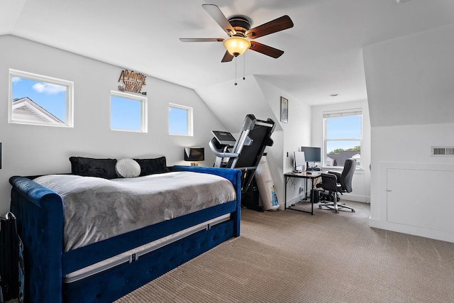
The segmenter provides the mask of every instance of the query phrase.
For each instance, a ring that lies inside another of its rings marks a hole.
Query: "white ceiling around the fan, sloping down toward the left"
[[[289,15],[293,28],[258,38],[284,55],[248,51],[245,60],[221,63],[222,43],[180,42],[226,38],[202,9],[206,3],[218,5],[226,17],[248,16],[253,26]],[[235,70],[238,79],[243,73],[261,77],[311,105],[367,99],[363,46],[452,23],[453,0],[0,0],[0,35],[143,72],[196,90],[212,108],[244,111],[260,105],[260,91],[249,87],[236,94],[247,82],[228,89],[230,97],[216,94],[216,87],[234,81]]]

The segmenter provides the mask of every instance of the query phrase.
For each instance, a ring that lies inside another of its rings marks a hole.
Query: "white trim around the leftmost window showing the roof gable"
[[[42,81],[50,84],[66,87],[66,123],[40,123],[35,121],[13,120],[13,78],[21,77],[34,81]],[[8,96],[8,122],[18,124],[30,124],[39,126],[74,127],[74,82],[44,75],[9,69],[9,96]]]

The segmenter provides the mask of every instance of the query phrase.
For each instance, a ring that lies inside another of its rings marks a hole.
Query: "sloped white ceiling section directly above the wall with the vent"
[[[364,49],[371,126],[454,123],[454,26]]]

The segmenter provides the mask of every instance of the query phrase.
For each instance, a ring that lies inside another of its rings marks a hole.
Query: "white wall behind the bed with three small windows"
[[[110,92],[117,89],[121,70],[128,67],[108,65],[9,35],[0,36],[0,45],[0,214],[9,209],[9,177],[70,172],[68,158],[72,155],[166,155],[167,165],[188,164],[183,161],[183,147],[196,145],[206,148],[206,160],[201,165],[213,164],[214,155],[208,147],[210,131],[223,126],[192,89],[147,77],[143,91],[148,93],[148,133],[111,131]],[[73,81],[74,128],[8,123],[9,68]],[[193,137],[168,135],[170,102],[194,109]]]

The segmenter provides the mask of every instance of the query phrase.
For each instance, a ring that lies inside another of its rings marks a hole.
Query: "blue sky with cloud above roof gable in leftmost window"
[[[67,87],[23,77],[13,77],[13,99],[28,97],[63,123],[67,112]]]

